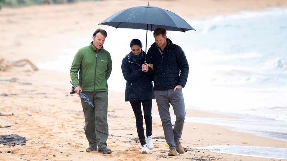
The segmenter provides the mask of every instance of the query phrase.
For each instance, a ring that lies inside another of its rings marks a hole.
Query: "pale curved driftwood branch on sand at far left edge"
[[[38,70],[38,67],[34,65],[30,60],[22,59],[15,62],[5,62],[4,58],[0,59],[0,71],[6,71],[11,67],[23,67],[24,65],[30,65],[34,71]]]

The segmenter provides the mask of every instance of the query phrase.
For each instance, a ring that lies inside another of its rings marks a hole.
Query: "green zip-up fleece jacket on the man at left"
[[[76,53],[70,70],[72,82],[83,91],[108,91],[107,80],[112,71],[111,55],[103,47],[96,53],[96,47],[92,44]]]

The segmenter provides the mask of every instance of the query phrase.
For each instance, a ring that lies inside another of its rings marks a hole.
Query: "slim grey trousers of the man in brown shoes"
[[[175,142],[179,142],[179,139],[181,138],[186,115],[182,89],[178,88],[175,91],[173,91],[173,89],[154,91],[154,95],[156,98],[156,104],[158,106],[158,113],[161,118],[166,143],[169,145],[169,148],[176,149]],[[173,111],[176,116],[173,129],[171,125],[169,103],[173,107]]]

